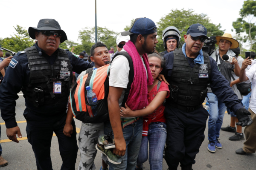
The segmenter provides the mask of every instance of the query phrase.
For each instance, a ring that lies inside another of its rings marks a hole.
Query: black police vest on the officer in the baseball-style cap
[[[174,62],[170,83],[171,100],[167,103],[180,110],[189,112],[200,107],[207,96],[207,85],[211,73],[209,55],[205,52],[204,64],[195,64],[191,68],[182,49],[173,51]]]

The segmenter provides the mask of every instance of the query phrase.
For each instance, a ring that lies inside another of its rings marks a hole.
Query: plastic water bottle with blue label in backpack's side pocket
[[[97,115],[97,103],[98,103],[98,99],[96,94],[90,89],[90,86],[86,86],[86,90],[87,90],[87,101],[90,105],[93,106],[88,106],[87,105],[87,109],[88,109],[88,113],[90,114],[90,117],[96,116]]]

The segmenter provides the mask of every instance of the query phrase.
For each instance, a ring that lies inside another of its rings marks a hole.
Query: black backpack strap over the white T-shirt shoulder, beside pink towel
[[[128,52],[125,52],[125,51],[120,51],[119,53],[116,53],[114,55],[113,59],[112,59],[112,62],[116,58],[116,56],[118,56],[120,54],[127,58],[128,62],[129,62],[129,67],[130,67],[129,77],[128,77],[129,82],[128,82],[127,88],[125,89],[125,96],[124,96],[124,99],[123,99],[123,102],[122,102],[122,107],[125,108],[125,103],[128,99],[128,96],[129,96],[129,93],[130,93],[130,90],[131,90],[131,84],[134,81],[134,65],[133,65],[133,61],[131,59],[131,56],[128,54]]]

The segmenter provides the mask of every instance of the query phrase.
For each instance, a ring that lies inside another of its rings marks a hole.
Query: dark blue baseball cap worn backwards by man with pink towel
[[[147,35],[157,32],[157,26],[154,21],[149,18],[136,18],[131,24],[129,31],[121,32],[122,36],[127,36],[131,34],[141,34]]]

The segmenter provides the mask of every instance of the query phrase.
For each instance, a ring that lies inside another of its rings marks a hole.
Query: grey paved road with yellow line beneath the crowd
[[[9,161],[9,165],[6,167],[0,167],[0,170],[36,170],[35,156],[31,145],[26,140],[26,121],[23,117],[23,111],[25,109],[25,102],[23,96],[20,95],[17,100],[16,106],[16,121],[19,122],[23,140],[19,143],[8,142],[6,136],[6,127],[4,121],[0,118],[0,124],[2,129],[1,145],[3,147],[3,157]],[[230,116],[225,114],[223,126],[230,123]],[[81,122],[76,120],[77,131],[81,127]],[[205,130],[205,136],[207,136],[208,129]],[[256,154],[250,154],[248,156],[241,156],[235,153],[236,149],[243,146],[244,141],[232,142],[228,140],[228,137],[233,136],[233,133],[221,131],[220,142],[223,145],[222,149],[216,149],[215,153],[209,153],[207,150],[208,140],[204,140],[201,145],[200,152],[196,157],[196,164],[193,166],[194,170],[256,170]],[[78,135],[77,135],[78,138]],[[56,136],[52,137],[51,147],[52,166],[54,170],[59,170],[61,167],[61,156],[58,150],[58,140]],[[80,152],[77,154],[76,170],[78,169],[80,161]],[[101,167],[101,156],[98,153],[95,159],[96,170]],[[148,161],[143,165],[143,169],[149,170]],[[163,170],[167,170],[168,166],[166,161],[163,160]],[[180,167],[179,167],[180,170]]]

